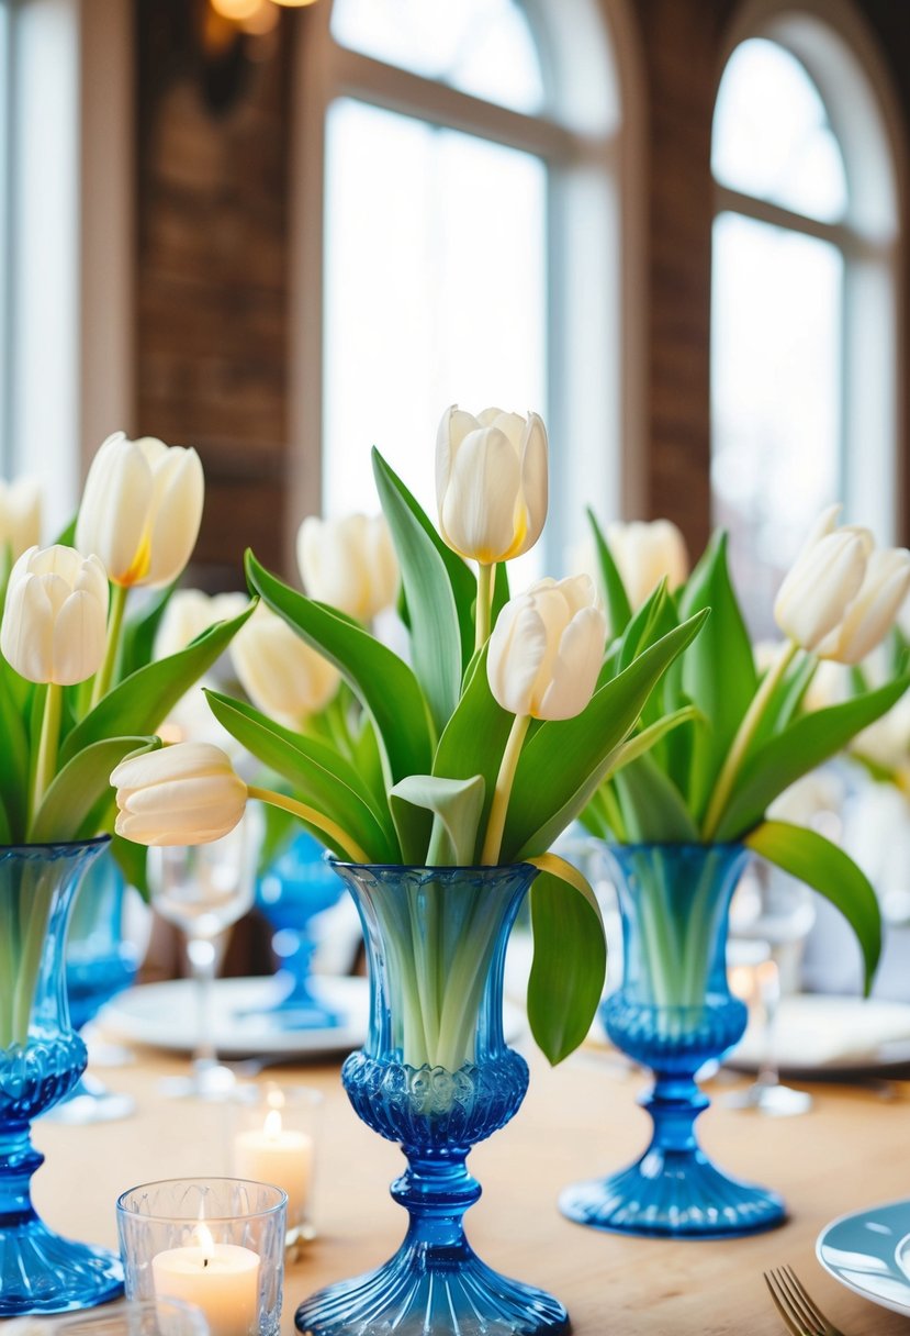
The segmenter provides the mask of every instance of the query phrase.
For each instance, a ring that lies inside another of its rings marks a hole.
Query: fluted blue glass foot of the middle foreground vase
[[[538,1336],[568,1331],[563,1305],[500,1276],[470,1248],[407,1244],[378,1271],[330,1285],[296,1313],[303,1336]]]

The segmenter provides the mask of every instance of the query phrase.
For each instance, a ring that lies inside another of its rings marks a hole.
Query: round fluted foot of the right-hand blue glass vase
[[[727,1177],[701,1150],[654,1148],[628,1169],[566,1188],[559,1209],[579,1225],[651,1238],[735,1238],[786,1216],[781,1197]]]

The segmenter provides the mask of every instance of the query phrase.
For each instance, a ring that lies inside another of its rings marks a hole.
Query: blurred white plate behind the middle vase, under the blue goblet
[[[275,978],[216,979],[212,1013],[219,1054],[225,1058],[248,1053],[306,1055],[360,1047],[367,1037],[367,981],[324,974],[314,975],[312,983],[320,1001],[343,1017],[342,1025],[319,1030],[282,1030],[270,1025],[268,1017],[262,1014],[282,997],[282,985]],[[108,1002],[97,1022],[135,1043],[192,1053],[199,1037],[193,989],[192,979],[143,983]]]

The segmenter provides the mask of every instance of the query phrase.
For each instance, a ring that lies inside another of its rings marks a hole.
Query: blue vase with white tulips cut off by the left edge
[[[83,871],[111,843],[111,766],[160,745],[155,728],[246,616],[151,661],[151,637],[196,540],[193,450],[123,433],[99,450],[75,530],[37,545],[36,492],[0,490],[0,1315],[59,1312],[121,1288],[104,1249],[36,1216],[29,1122],[79,1079],[85,1046],[65,1007],[64,938]],[[129,591],[161,591],[136,617]],[[131,879],[135,846],[115,840]]]

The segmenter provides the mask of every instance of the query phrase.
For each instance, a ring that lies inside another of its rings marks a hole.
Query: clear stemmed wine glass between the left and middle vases
[[[148,851],[152,906],[184,934],[196,993],[192,1074],[165,1081],[167,1094],[217,1100],[225,1097],[235,1082],[231,1069],[217,1061],[213,986],[219,938],[254,903],[258,836],[259,814],[248,807],[228,835],[209,844]]]

